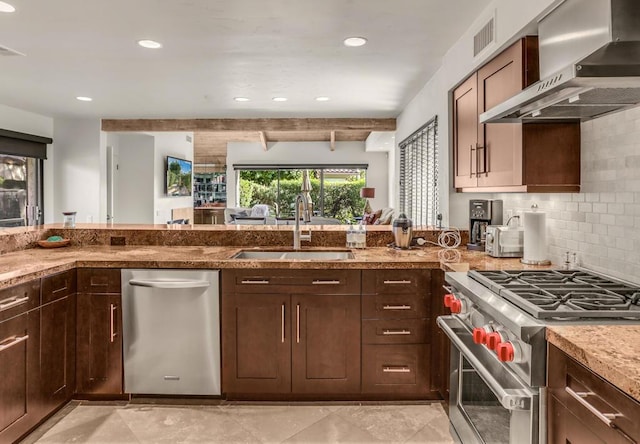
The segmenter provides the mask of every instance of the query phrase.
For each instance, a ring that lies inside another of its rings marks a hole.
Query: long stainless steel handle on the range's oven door
[[[457,322],[453,316],[439,316],[437,319],[438,326],[444,331],[447,337],[451,340],[451,343],[460,350],[460,353],[464,358],[469,361],[473,368],[478,372],[478,375],[489,386],[491,391],[496,395],[502,407],[507,410],[531,410],[531,400],[533,393],[527,390],[525,387],[521,389],[507,389],[493,377],[493,375],[486,370],[482,362],[476,358],[473,352],[467,347],[467,345],[458,337],[456,332],[449,326],[447,321]],[[460,323],[462,326],[463,324]]]

